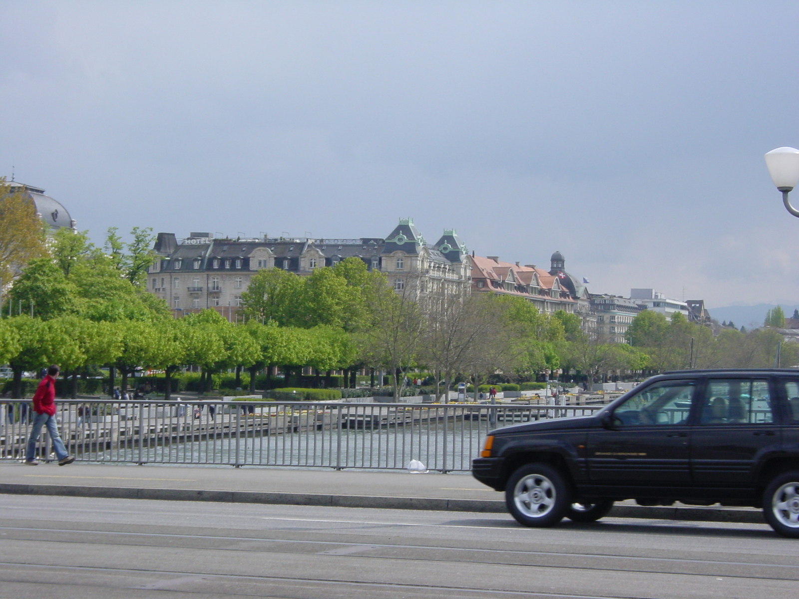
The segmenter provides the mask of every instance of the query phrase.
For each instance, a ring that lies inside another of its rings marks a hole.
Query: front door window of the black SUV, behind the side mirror
[[[626,399],[613,412],[616,426],[674,426],[688,422],[693,381],[654,383]]]

